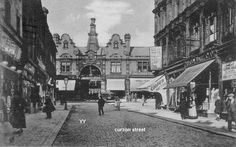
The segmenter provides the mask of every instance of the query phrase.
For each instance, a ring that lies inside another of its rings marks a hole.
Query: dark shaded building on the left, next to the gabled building
[[[47,15],[41,0],[23,0],[22,89],[23,97],[34,107],[45,95],[54,98],[57,49]]]

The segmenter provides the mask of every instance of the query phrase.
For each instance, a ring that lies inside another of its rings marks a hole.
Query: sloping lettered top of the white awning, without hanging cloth
[[[144,83],[142,86],[138,87],[138,89],[143,90],[143,91],[154,92],[156,89],[160,89],[159,87],[163,83],[166,84],[165,76],[160,75]]]

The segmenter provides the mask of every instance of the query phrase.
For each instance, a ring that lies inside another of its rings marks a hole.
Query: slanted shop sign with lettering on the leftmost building
[[[12,41],[11,38],[9,38],[9,36],[3,32],[0,33],[0,50],[17,60],[19,60],[21,57],[21,49],[14,41]]]

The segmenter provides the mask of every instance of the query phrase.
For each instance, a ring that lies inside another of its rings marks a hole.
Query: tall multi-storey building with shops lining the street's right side
[[[195,85],[198,112],[213,112],[226,90],[235,92],[236,2],[234,0],[155,0],[155,46],[162,46],[169,107],[181,87]],[[229,69],[227,69],[228,67]],[[190,92],[188,90],[188,92]]]

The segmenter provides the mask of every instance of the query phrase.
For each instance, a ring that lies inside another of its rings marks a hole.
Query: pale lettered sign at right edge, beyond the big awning
[[[236,61],[222,64],[222,81],[236,79]]]

